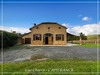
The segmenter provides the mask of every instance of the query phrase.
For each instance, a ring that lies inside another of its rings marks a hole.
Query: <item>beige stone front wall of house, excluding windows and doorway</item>
[[[50,29],[48,29],[48,27],[50,27]],[[59,29],[59,27],[61,27],[61,29]],[[29,35],[29,36],[31,36],[31,44],[32,45],[43,45],[43,35],[46,33],[53,34],[53,45],[66,45],[66,43],[67,43],[66,28],[64,28],[60,25],[57,25],[57,24],[41,24],[41,25],[38,25],[38,29],[36,29],[36,27],[33,27],[31,29],[31,34]],[[33,34],[41,34],[42,40],[41,41],[40,40],[33,41]],[[62,40],[56,41],[56,34],[64,34],[64,41],[62,41]]]

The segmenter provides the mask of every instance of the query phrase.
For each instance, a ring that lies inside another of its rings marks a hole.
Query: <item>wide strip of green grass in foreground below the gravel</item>
[[[20,63],[4,63],[3,64],[4,72],[12,72],[7,75],[33,75],[31,72],[35,73],[35,75],[55,75],[54,73],[58,73],[57,75],[62,75],[62,71],[54,71],[54,69],[62,69],[67,75],[68,72],[96,72],[97,71],[97,61],[89,61],[89,60],[80,60],[80,59],[49,59],[47,61],[28,61],[28,62],[20,62]],[[100,67],[100,65],[99,65]],[[26,70],[31,70],[29,73]],[[46,71],[32,71],[33,69],[38,70],[46,70]],[[69,69],[69,71],[64,71],[64,69]],[[73,69],[73,71],[71,71]],[[48,71],[49,70],[49,71]],[[23,74],[16,74],[16,72],[25,72]],[[44,72],[44,74],[42,74]],[[47,74],[46,74],[46,73]],[[100,72],[100,70],[99,70]],[[38,74],[39,73],[39,74]],[[91,74],[85,74],[91,75]],[[96,74],[93,74],[96,75]]]

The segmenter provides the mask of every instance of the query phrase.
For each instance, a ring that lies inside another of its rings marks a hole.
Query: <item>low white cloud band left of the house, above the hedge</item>
[[[22,27],[6,27],[6,26],[0,26],[0,30],[5,30],[8,32],[16,31],[16,33],[28,33],[30,30],[28,28],[22,28]]]

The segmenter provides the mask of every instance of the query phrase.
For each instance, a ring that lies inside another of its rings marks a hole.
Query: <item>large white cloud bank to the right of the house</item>
[[[84,33],[85,35],[96,35],[100,34],[100,24],[86,24],[83,26],[76,26],[70,29],[70,32],[79,35],[79,33]]]

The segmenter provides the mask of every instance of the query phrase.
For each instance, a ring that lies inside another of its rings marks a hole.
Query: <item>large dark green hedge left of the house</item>
[[[14,46],[17,43],[18,35],[15,33],[10,33],[6,31],[0,31],[0,39],[2,39],[3,36],[3,48]],[[1,46],[2,40],[0,40],[0,46]]]

